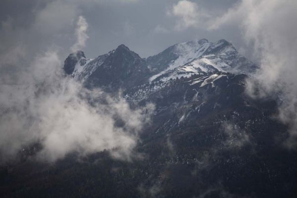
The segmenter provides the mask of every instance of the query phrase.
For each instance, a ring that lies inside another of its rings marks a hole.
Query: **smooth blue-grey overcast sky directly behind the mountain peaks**
[[[212,42],[226,39],[245,53],[247,46],[237,26],[206,30],[203,24],[177,25],[181,18],[205,20],[207,14],[220,16],[237,1],[188,1],[195,3],[190,4],[195,12],[202,13],[193,16],[189,6],[183,7],[179,0],[1,0],[0,52],[21,44],[28,55],[52,46],[67,55],[76,40],[76,21],[83,16],[89,39],[82,50],[88,57],[120,44],[148,57],[175,43],[202,38]]]

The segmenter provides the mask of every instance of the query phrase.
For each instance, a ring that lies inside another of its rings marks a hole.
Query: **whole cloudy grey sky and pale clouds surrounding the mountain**
[[[275,119],[289,128],[284,146],[296,149],[296,19],[296,0],[1,0],[0,161],[36,141],[49,161],[112,147],[131,158],[153,104],[130,109],[120,97],[86,90],[63,76],[65,58],[79,49],[97,57],[120,44],[148,57],[202,38],[226,39],[260,65],[247,94],[277,95]],[[93,107],[81,96],[108,102]],[[115,115],[124,127],[114,127]]]

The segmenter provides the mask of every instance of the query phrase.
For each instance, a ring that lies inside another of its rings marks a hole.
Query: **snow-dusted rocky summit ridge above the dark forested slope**
[[[77,51],[64,64],[65,72],[87,87],[106,89],[127,89],[152,81],[165,82],[218,71],[250,74],[257,68],[226,40],[211,43],[206,39],[176,44],[148,58],[141,58],[125,45],[95,59]]]

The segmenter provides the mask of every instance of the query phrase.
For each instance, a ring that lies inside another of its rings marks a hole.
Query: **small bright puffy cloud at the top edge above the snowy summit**
[[[177,18],[175,29],[178,31],[203,24],[210,15],[205,9],[199,9],[198,4],[189,0],[180,0],[167,11],[169,16]]]

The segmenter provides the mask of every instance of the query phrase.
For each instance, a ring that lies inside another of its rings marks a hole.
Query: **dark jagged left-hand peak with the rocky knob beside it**
[[[146,61],[125,45],[94,59],[84,52],[71,53],[65,60],[64,70],[89,88],[118,89],[141,85],[149,74]]]

